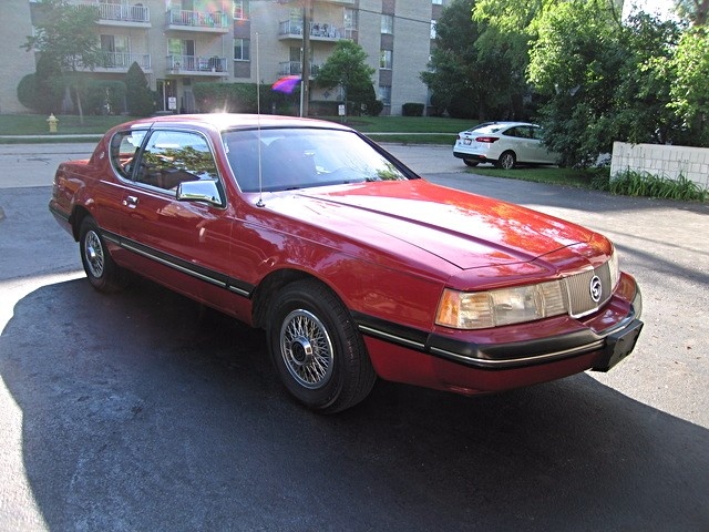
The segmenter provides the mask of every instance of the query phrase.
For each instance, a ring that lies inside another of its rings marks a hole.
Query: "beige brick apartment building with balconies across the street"
[[[134,61],[160,95],[162,111],[196,111],[195,83],[274,83],[310,78],[342,39],[358,42],[376,69],[372,83],[382,114],[407,102],[427,103],[419,73],[427,69],[434,21],[450,0],[73,0],[96,6],[94,31],[104,61],[91,75],[121,80]],[[17,98],[34,55],[20,47],[32,34],[37,1],[6,0],[2,22],[0,112],[27,110]],[[308,43],[307,49],[304,43]],[[258,68],[257,68],[258,58]],[[337,101],[337,90],[312,86],[311,100]]]

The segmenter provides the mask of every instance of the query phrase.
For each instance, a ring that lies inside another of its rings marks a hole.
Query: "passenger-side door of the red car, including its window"
[[[226,285],[232,219],[207,137],[196,131],[152,131],[123,200],[123,246],[143,275],[204,299]],[[179,201],[182,183],[212,181],[220,204]],[[208,299],[208,298],[207,298]]]

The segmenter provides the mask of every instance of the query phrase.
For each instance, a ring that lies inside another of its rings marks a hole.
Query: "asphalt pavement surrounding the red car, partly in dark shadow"
[[[316,416],[261,332],[146,282],[91,289],[47,202],[58,162],[93,143],[0,145],[0,531],[709,530],[707,205],[389,147],[431,181],[612,237],[644,293],[636,351],[499,396],[379,382]]]

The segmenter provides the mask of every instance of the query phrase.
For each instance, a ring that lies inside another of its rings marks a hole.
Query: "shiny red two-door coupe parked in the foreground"
[[[148,277],[254,327],[321,412],[377,377],[473,395],[606,371],[640,290],[602,235],[433,185],[330,122],[144,119],[56,171],[90,283]]]

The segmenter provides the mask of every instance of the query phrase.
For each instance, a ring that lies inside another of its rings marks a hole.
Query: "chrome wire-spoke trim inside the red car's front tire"
[[[335,349],[330,335],[308,310],[296,309],[284,319],[280,355],[290,376],[304,388],[322,388],[332,376]]]

